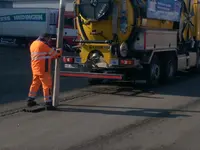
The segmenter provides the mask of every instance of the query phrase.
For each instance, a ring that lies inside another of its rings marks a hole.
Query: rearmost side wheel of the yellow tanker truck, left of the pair
[[[161,67],[156,55],[153,56],[151,63],[147,66],[147,75],[147,85],[157,86],[161,76]]]

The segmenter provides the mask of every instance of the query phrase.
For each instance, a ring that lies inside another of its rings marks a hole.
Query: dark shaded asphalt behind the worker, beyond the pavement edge
[[[0,103],[25,100],[32,80],[29,50],[0,47],[0,68]],[[87,80],[80,78],[62,78],[60,83],[61,92],[87,86]]]

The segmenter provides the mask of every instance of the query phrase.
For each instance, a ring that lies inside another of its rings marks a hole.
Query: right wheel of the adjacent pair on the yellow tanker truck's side
[[[160,83],[172,81],[177,71],[177,61],[174,55],[169,55],[164,59],[161,66]]]

